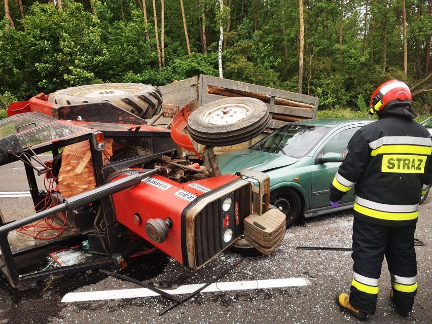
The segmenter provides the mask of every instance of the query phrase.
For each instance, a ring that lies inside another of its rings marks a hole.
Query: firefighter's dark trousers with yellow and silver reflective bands
[[[417,293],[415,228],[415,224],[385,226],[354,217],[351,255],[354,265],[349,296],[351,305],[365,313],[375,313],[385,256],[391,276],[393,303],[403,312],[412,310]]]

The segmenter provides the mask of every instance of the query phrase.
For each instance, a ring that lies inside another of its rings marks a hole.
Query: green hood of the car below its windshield
[[[255,150],[240,150],[218,156],[222,173],[235,173],[244,168],[261,172],[294,164],[298,161],[285,155]]]

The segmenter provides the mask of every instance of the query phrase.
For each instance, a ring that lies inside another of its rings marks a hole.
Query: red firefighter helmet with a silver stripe
[[[392,104],[407,103],[411,107],[411,102],[410,88],[402,81],[390,80],[376,88],[371,97],[371,109],[368,113],[379,113],[384,107]]]

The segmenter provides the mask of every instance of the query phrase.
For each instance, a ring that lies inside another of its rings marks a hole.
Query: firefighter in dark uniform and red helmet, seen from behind
[[[378,121],[354,134],[330,185],[335,207],[355,188],[351,292],[338,293],[336,303],[359,320],[375,313],[384,256],[390,298],[401,316],[412,310],[417,293],[414,232],[420,197],[432,182],[432,139],[413,120],[411,101],[409,87],[398,80],[375,90],[369,114],[377,113]]]

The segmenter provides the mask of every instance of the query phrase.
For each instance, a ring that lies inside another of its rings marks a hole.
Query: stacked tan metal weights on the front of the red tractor
[[[251,214],[244,219],[244,239],[265,255],[271,254],[285,236],[285,214],[269,209],[262,215]]]

